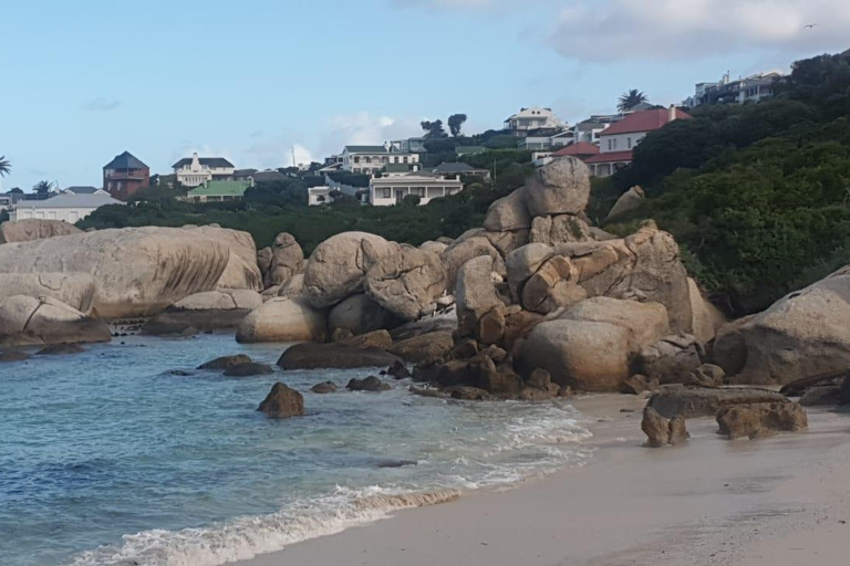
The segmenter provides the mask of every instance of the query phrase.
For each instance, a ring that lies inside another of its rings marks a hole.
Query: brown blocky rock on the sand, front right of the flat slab
[[[796,432],[808,427],[806,409],[799,403],[782,400],[733,405],[717,411],[719,433],[729,440],[748,437],[763,438],[776,432]]]

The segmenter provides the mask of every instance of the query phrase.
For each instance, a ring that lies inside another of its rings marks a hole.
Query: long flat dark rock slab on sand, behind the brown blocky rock
[[[784,401],[785,396],[776,391],[756,388],[694,388],[666,386],[654,394],[647,403],[666,418],[682,415],[686,419],[713,417],[722,407],[754,402]]]

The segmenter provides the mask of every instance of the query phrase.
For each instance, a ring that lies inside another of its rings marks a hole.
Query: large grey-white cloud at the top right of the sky
[[[561,9],[548,43],[579,61],[693,60],[843,50],[848,27],[846,0],[574,0]]]

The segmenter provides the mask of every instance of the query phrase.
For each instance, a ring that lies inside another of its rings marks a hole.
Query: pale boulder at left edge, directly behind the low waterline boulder
[[[89,273],[0,273],[0,301],[14,295],[49,296],[90,314],[95,290]]]

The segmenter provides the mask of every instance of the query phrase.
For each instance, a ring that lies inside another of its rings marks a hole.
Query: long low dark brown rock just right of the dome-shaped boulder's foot
[[[396,356],[377,348],[357,348],[345,344],[314,344],[305,342],[287,349],[278,360],[283,369],[390,367],[401,361]]]

